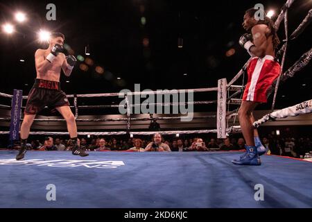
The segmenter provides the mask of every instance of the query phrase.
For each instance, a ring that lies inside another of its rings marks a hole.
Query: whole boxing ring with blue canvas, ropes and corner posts
[[[293,0],[294,1],[294,0]],[[287,10],[293,1],[288,0],[275,22],[278,29],[284,20],[286,40],[277,52],[281,58],[281,75],[272,85],[268,96],[274,92],[272,111],[275,106],[277,89],[288,78],[304,68],[312,58],[312,49],[304,53],[297,62],[284,71],[287,46],[311,22],[312,9],[300,26],[288,37]],[[250,60],[248,60],[249,62]],[[227,83],[225,78],[218,80],[217,87],[200,89],[177,89],[174,92],[209,93],[216,92],[214,101],[188,101],[184,103],[151,103],[150,105],[209,105],[216,104],[216,115],[194,117],[216,121],[216,129],[206,130],[162,130],[162,135],[216,133],[225,138],[231,133],[240,133],[237,120],[238,105],[241,104],[245,72],[248,62]],[[241,85],[234,85],[242,79]],[[153,92],[157,94],[159,92]],[[172,94],[168,90],[162,94]],[[153,135],[156,131],[132,130],[135,121],[174,120],[181,117],[132,117],[130,108],[141,104],[130,104],[129,96],[146,92],[127,94],[75,94],[73,99],[76,121],[97,122],[123,121],[125,130],[80,132],[78,135]],[[0,96],[14,99],[13,94],[0,93]],[[27,96],[19,95],[22,100]],[[79,105],[79,98],[123,96],[123,105]],[[16,99],[16,98],[15,98]],[[298,105],[300,105],[300,109]],[[276,110],[254,123],[259,127],[266,121],[312,112],[311,101],[300,103],[286,110]],[[307,105],[306,105],[307,104]],[[12,110],[11,105],[0,105],[1,109]],[[234,110],[229,110],[236,106]],[[81,119],[80,109],[126,108],[124,118],[119,119]],[[22,107],[23,108],[23,107]],[[21,121],[14,119],[14,121]],[[0,118],[10,122],[13,118]],[[35,119],[35,121],[64,121],[64,119]],[[8,135],[10,131],[0,131]],[[68,135],[67,132],[32,131],[31,135]],[[312,207],[312,168],[311,162],[295,160],[274,155],[261,156],[262,164],[257,167],[233,166],[231,160],[241,152],[90,152],[88,157],[77,157],[70,152],[28,151],[26,158],[15,160],[16,151],[0,151],[0,207]],[[56,200],[46,199],[46,186],[56,187]],[[255,186],[263,185],[264,200],[255,200]]]

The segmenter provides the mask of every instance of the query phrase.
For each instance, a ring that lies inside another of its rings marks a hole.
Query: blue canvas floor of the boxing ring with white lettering
[[[264,155],[259,167],[233,167],[239,154],[28,151],[17,162],[0,151],[0,207],[312,207],[311,162]]]

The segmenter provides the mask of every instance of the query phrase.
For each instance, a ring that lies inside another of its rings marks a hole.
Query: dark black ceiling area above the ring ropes
[[[24,89],[24,94],[28,94],[35,78],[35,50],[45,47],[36,41],[36,32],[43,27],[64,33],[67,44],[76,56],[87,58],[84,54],[85,46],[89,44],[89,58],[94,61],[94,65],[89,65],[88,71],[82,71],[78,64],[69,78],[62,75],[62,89],[67,94],[133,90],[135,83],[140,83],[141,89],[153,90],[216,87],[219,78],[227,78],[229,81],[248,60],[248,53],[238,44],[239,37],[244,33],[241,27],[244,11],[255,3],[263,3],[266,9],[273,8],[279,13],[284,2],[2,2],[1,24],[12,21],[15,10],[26,12],[28,22],[17,25],[17,33],[13,35],[0,34],[0,92],[12,94],[12,89]],[[48,3],[55,3],[56,21],[46,20]],[[297,28],[310,8],[311,0],[297,0],[293,3],[288,14],[290,32]],[[145,25],[141,24],[141,17],[146,18]],[[285,63],[287,69],[302,53],[311,49],[311,27],[290,43]],[[181,49],[177,47],[179,36],[183,38]],[[283,24],[279,37],[284,39]],[[236,53],[227,57],[225,53],[231,48]],[[25,62],[19,62],[20,59]],[[97,74],[96,66],[103,67],[105,72]],[[311,99],[311,71],[312,65],[309,64],[280,86],[277,108]],[[67,80],[69,83],[66,83]],[[237,84],[241,84],[241,80]],[[195,99],[214,100],[216,94],[196,94]],[[268,105],[261,105],[260,108],[270,108],[271,102],[272,98]]]

